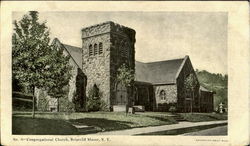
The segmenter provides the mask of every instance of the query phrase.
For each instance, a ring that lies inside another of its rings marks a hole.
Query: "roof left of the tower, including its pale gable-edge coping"
[[[71,59],[75,64],[82,69],[82,51],[81,48],[63,44],[57,38],[55,38],[52,44],[57,45],[58,47],[63,47],[65,51],[70,55]]]

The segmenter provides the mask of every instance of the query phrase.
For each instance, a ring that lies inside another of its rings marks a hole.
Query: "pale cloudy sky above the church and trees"
[[[20,20],[27,12],[13,12]],[[51,38],[81,47],[81,29],[113,21],[136,31],[135,59],[142,62],[189,55],[194,69],[227,74],[225,12],[39,12]]]

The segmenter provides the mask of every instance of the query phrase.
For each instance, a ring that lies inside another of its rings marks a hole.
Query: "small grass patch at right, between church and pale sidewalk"
[[[179,115],[189,122],[227,120],[227,114],[218,113],[179,113]]]

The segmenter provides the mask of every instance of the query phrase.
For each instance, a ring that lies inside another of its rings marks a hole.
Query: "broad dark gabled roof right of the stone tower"
[[[152,84],[174,84],[178,77],[185,58],[165,60],[159,62],[135,62],[135,81]]]

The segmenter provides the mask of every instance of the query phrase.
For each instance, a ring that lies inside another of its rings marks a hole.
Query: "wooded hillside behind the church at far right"
[[[216,108],[221,102],[225,103],[227,107],[228,76],[210,73],[205,70],[196,70],[196,74],[201,86],[207,88],[208,90],[216,92],[216,94],[214,95],[214,108]]]

